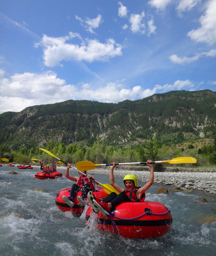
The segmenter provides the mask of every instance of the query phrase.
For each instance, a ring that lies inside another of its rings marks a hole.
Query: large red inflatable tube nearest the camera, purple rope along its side
[[[157,202],[122,203],[112,210],[112,214],[115,227],[110,216],[104,217],[101,212],[96,215],[91,206],[87,210],[85,221],[87,222],[92,215],[97,216],[98,229],[131,239],[163,236],[172,225],[171,213]]]

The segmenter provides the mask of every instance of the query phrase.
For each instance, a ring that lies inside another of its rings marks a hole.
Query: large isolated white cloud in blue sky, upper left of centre
[[[122,46],[115,42],[114,39],[109,38],[106,43],[101,43],[97,39],[86,39],[81,42],[81,45],[73,43],[66,43],[67,40],[78,37],[79,34],[69,33],[66,37],[48,37],[43,35],[42,40],[35,44],[35,47],[41,46],[43,48],[43,59],[46,66],[55,66],[61,61],[106,61],[122,55]]]

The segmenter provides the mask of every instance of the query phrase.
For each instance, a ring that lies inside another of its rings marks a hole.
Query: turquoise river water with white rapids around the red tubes
[[[9,175],[11,170],[18,175]],[[171,210],[172,227],[159,238],[132,240],[98,230],[94,222],[86,224],[87,209],[81,216],[59,210],[55,205],[56,193],[71,187],[73,182],[64,176],[35,179],[37,171],[39,168],[0,167],[0,255],[215,255],[216,222],[205,222],[205,218],[216,214],[216,195],[172,190],[169,194],[157,194],[157,188],[171,187],[153,184],[146,200],[160,202]],[[62,172],[65,174],[65,170]],[[76,171],[71,175],[78,176]],[[109,184],[109,175],[94,177]],[[123,187],[121,177],[116,177],[116,183]],[[35,188],[44,192],[34,191]],[[198,203],[201,197],[208,203]]]

